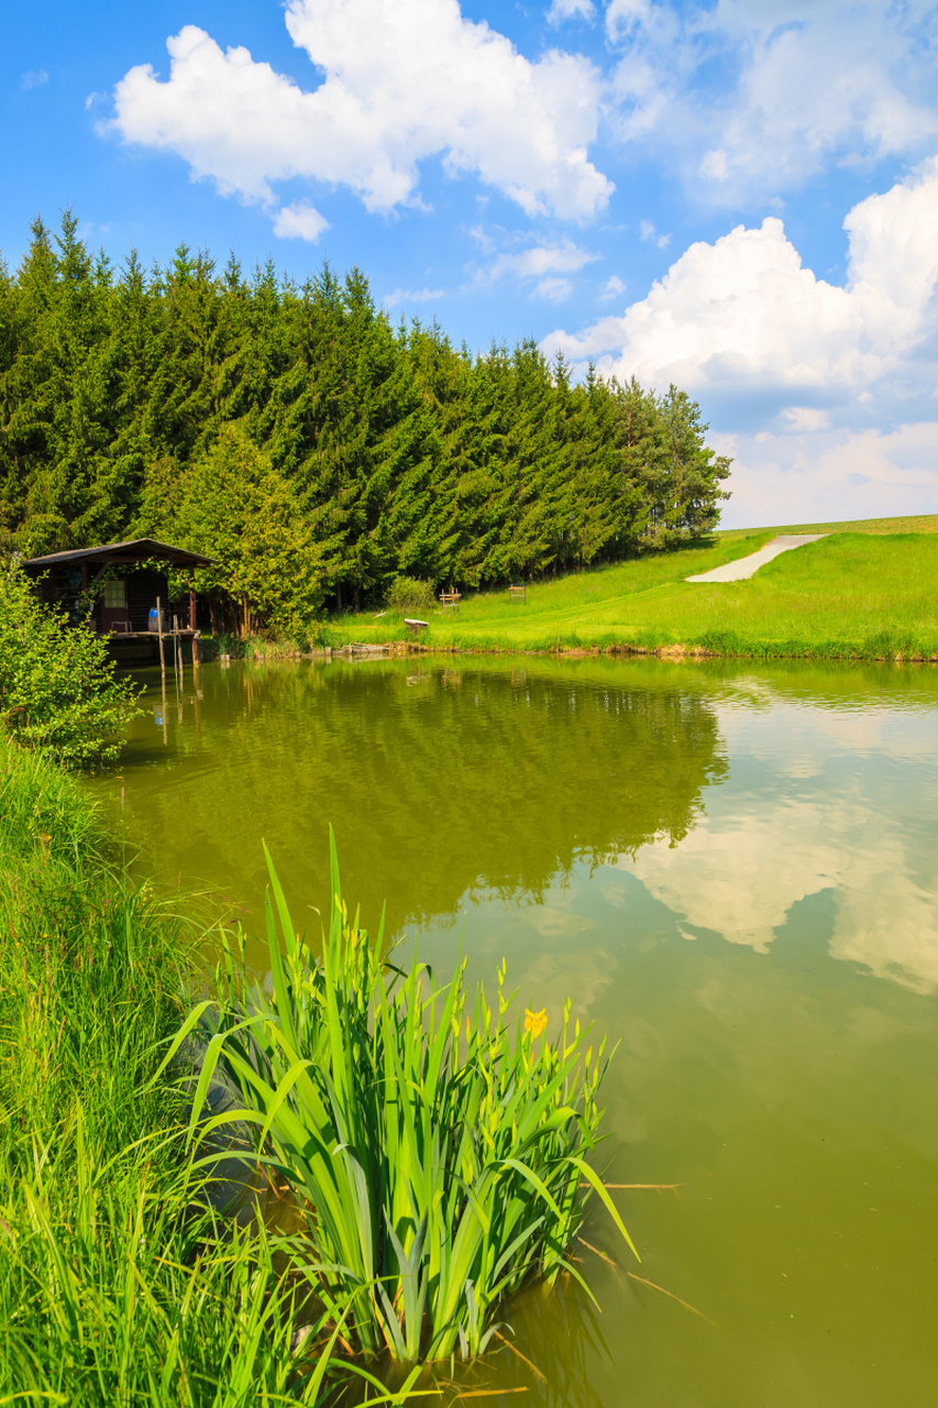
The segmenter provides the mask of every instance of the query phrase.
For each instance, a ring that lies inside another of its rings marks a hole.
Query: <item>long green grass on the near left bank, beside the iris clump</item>
[[[159,1070],[194,942],[108,866],[77,784],[0,742],[0,1402],[323,1404],[348,1381],[346,1308],[307,1308],[297,1357],[308,1284],[192,1169]]]

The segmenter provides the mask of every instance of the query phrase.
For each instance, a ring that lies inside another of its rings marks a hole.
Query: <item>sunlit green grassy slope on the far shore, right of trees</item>
[[[755,552],[782,531],[725,534],[680,552],[532,583],[524,605],[511,605],[507,590],[466,596],[458,614],[434,612],[421,639],[431,649],[469,650],[938,658],[932,531],[838,531],[783,553],[745,582],[684,582]],[[400,617],[362,614],[330,621],[325,639],[339,646],[404,635]]]

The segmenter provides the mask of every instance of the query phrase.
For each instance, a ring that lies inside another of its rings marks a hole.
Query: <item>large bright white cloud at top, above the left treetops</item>
[[[131,69],[106,128],[252,201],[300,176],[387,211],[414,199],[418,163],[442,155],[451,175],[477,173],[528,214],[606,206],[611,182],[587,159],[599,75],[586,59],[552,49],[531,63],[463,20],[458,0],[290,0],[286,24],[325,75],[311,92],[186,25],[166,44],[169,77]]]

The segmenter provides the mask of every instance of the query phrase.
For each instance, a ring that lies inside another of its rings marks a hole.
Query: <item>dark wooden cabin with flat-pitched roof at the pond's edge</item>
[[[156,538],[51,552],[23,562],[25,572],[37,580],[44,601],[62,607],[76,622],[90,621],[96,631],[110,636],[114,653],[125,658],[156,652],[158,601],[163,612],[162,631],[176,627],[179,638],[190,641],[193,650],[197,649],[200,632],[193,573],[196,567],[210,566],[211,558],[173,548]],[[169,567],[189,577],[187,600],[169,603]]]

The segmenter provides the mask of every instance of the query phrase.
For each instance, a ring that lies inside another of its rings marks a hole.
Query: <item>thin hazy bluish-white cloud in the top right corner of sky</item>
[[[618,135],[672,146],[711,200],[799,186],[831,155],[921,155],[938,134],[927,0],[720,0],[711,11],[611,0],[606,23],[623,48]]]

